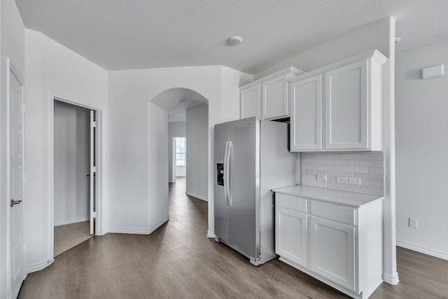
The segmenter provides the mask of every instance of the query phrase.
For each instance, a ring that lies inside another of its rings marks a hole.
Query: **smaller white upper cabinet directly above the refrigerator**
[[[257,116],[277,119],[289,116],[288,80],[303,71],[288,67],[239,88],[241,119]]]

